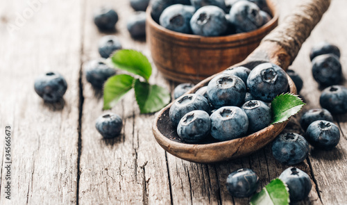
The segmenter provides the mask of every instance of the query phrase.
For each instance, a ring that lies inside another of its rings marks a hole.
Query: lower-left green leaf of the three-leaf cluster
[[[103,109],[108,110],[115,106],[119,99],[133,88],[133,82],[133,76],[126,74],[110,77],[103,88]]]

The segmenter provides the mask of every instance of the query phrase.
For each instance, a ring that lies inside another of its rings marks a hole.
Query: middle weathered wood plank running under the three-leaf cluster
[[[105,35],[92,22],[92,13],[101,5],[110,5],[119,14],[117,32],[126,49],[137,49],[149,56],[146,42],[130,38],[126,19],[135,13],[128,1],[85,1],[83,62],[99,58],[97,44]],[[153,70],[151,83],[167,86]],[[169,179],[164,150],[153,138],[153,115],[139,115],[134,92],[112,109],[123,117],[120,138],[102,140],[95,129],[95,120],[102,111],[103,100],[94,96],[92,87],[83,78],[82,152],[79,203],[81,204],[170,204]]]

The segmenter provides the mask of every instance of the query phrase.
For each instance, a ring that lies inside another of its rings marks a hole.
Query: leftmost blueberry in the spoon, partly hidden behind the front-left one
[[[208,99],[201,95],[187,94],[178,98],[174,104],[172,104],[169,110],[169,117],[174,124],[178,125],[180,119],[187,113],[193,110],[204,110],[210,113],[210,105],[208,104]]]

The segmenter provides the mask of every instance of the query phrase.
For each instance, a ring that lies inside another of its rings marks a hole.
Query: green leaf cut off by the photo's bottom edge
[[[273,179],[261,192],[251,198],[251,205],[288,205],[289,192],[287,185],[280,179]]]

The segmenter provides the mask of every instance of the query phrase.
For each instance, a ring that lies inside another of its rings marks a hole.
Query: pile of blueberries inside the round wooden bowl
[[[260,28],[271,20],[265,0],[153,0],[151,16],[180,33],[221,36]]]

